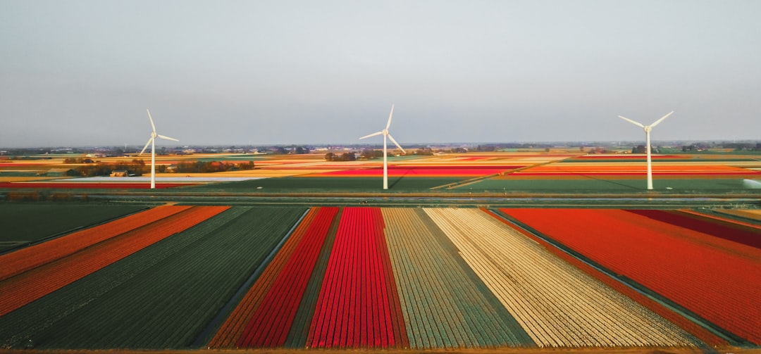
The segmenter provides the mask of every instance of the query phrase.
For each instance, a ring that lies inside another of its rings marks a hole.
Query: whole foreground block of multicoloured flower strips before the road
[[[759,239],[694,210],[149,207],[0,254],[0,348],[759,345]]]

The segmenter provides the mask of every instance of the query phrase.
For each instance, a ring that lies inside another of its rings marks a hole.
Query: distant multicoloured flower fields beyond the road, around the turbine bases
[[[124,158],[108,158],[111,162]],[[195,160],[194,160],[195,159]],[[642,194],[645,156],[557,152],[445,153],[391,156],[389,190],[382,191],[382,160],[326,161],[321,154],[202,154],[159,156],[157,164],[188,161],[239,163],[255,169],[215,173],[159,173],[162,194]],[[145,194],[142,178],[82,179],[44,176],[46,169],[75,168],[62,159],[4,163],[0,197],[23,199],[23,193],[57,192]],[[24,168],[29,169],[24,172]],[[42,173],[40,171],[43,171]],[[2,171],[0,171],[2,172]],[[22,174],[25,177],[11,175]],[[653,157],[654,191],[668,194],[761,193],[757,155],[664,154]],[[31,175],[40,174],[34,180]],[[15,194],[14,194],[15,193]],[[21,194],[19,194],[21,193]],[[27,195],[27,198],[29,196]]]

